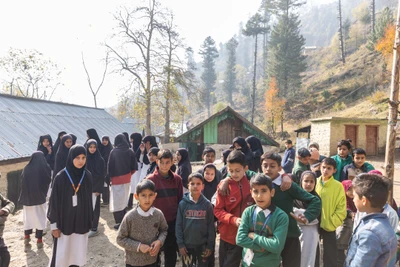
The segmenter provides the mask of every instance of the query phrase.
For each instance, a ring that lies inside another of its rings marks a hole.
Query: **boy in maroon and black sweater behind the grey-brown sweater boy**
[[[175,237],[175,222],[178,205],[183,197],[182,178],[170,169],[174,164],[170,150],[160,150],[157,155],[157,167],[147,179],[156,185],[157,197],[154,207],[160,209],[168,223],[168,234],[164,243],[165,267],[176,265],[176,252],[178,246]]]

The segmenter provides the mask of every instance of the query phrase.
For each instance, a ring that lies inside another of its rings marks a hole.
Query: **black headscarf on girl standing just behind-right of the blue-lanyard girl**
[[[96,146],[96,152],[94,152],[93,154],[90,153],[89,150],[89,147],[92,144]],[[86,169],[88,169],[92,174],[93,192],[101,193],[104,187],[105,169],[104,169],[104,159],[101,157],[96,140],[89,139],[86,142],[86,151],[87,151]]]

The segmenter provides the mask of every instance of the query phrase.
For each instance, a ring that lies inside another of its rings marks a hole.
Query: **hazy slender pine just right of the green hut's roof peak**
[[[231,38],[226,44],[226,49],[228,53],[228,61],[226,62],[225,71],[225,81],[224,81],[224,91],[226,95],[226,100],[233,106],[232,95],[236,91],[236,48],[238,42],[235,38]]]

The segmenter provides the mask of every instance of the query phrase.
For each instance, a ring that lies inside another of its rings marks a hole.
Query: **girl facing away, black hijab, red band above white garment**
[[[110,211],[113,212],[116,223],[114,228],[118,229],[126,213],[131,176],[137,170],[137,161],[123,134],[115,137],[114,146],[107,169],[111,178]]]

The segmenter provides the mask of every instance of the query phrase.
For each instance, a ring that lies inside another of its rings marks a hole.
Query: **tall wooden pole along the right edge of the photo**
[[[397,5],[396,38],[393,47],[392,80],[390,85],[388,130],[386,137],[385,175],[391,181],[388,203],[392,204],[394,182],[394,154],[396,148],[397,112],[399,106],[399,71],[400,71],[400,0]]]

